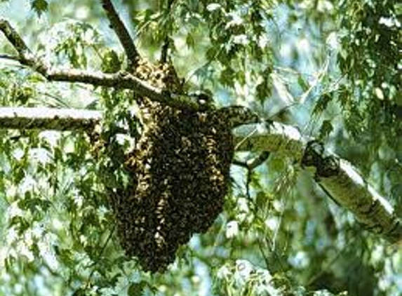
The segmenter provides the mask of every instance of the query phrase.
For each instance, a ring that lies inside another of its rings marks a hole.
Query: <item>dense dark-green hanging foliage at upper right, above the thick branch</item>
[[[378,166],[381,177],[397,184],[401,156],[401,6],[395,1],[340,3],[340,70],[347,77],[338,100],[351,139],[367,143],[364,170]],[[377,137],[375,143],[370,140]],[[395,155],[397,154],[397,155]],[[396,157],[396,158],[395,158]],[[396,161],[395,161],[396,160]],[[373,173],[372,173],[373,174]],[[398,185],[380,182],[398,199]]]

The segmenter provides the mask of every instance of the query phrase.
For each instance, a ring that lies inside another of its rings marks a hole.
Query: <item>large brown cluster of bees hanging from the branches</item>
[[[141,61],[138,78],[175,93],[173,67]],[[126,167],[125,192],[112,198],[118,236],[145,271],[164,271],[180,245],[204,233],[222,212],[234,154],[230,126],[215,109],[173,109],[138,98],[143,130]]]

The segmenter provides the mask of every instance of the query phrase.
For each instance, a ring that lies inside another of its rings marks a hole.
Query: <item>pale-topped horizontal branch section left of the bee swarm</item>
[[[1,107],[0,128],[40,130],[91,130],[100,112],[80,109]]]

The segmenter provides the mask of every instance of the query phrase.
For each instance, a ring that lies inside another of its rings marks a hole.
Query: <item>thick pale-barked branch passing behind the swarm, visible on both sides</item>
[[[232,119],[232,126],[255,122],[255,114],[244,107],[220,109],[222,116]],[[226,113],[226,114],[225,114]],[[100,112],[49,108],[0,108],[0,128],[88,130],[101,119]],[[230,124],[230,123],[229,123]],[[292,156],[314,177],[323,189],[347,208],[369,231],[391,242],[402,241],[402,224],[393,208],[373,187],[370,187],[350,163],[336,156],[326,156],[322,145],[307,142],[299,131],[278,122],[247,124],[234,128],[237,151],[276,152]]]

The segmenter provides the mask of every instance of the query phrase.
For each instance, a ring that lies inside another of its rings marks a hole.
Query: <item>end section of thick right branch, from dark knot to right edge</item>
[[[342,207],[347,208],[369,231],[391,242],[402,241],[402,224],[391,204],[359,175],[356,168],[339,157],[326,155],[323,145],[307,144],[302,166],[314,170],[314,179]]]

